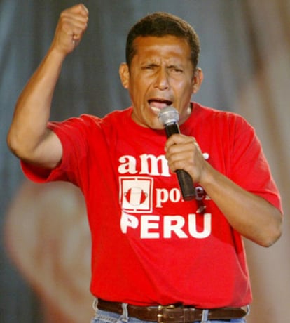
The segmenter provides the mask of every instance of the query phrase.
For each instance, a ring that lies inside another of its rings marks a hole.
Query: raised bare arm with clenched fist
[[[18,98],[7,143],[25,162],[53,168],[62,159],[60,140],[47,128],[50,107],[62,62],[78,46],[87,25],[88,10],[83,4],[61,13],[46,57]]]

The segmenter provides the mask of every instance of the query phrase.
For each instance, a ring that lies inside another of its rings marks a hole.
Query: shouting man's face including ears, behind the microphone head
[[[130,70],[120,66],[123,86],[132,100],[132,119],[141,126],[163,128],[160,109],[172,105],[182,124],[191,113],[191,95],[202,81],[201,70],[194,70],[191,51],[184,39],[174,36],[138,37]]]

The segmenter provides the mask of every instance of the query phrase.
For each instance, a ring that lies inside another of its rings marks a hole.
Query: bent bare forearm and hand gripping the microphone
[[[165,152],[171,171],[184,169],[199,183],[226,216],[228,223],[261,246],[270,246],[281,235],[282,214],[268,201],[243,190],[216,171],[202,156],[195,138],[173,135]]]

